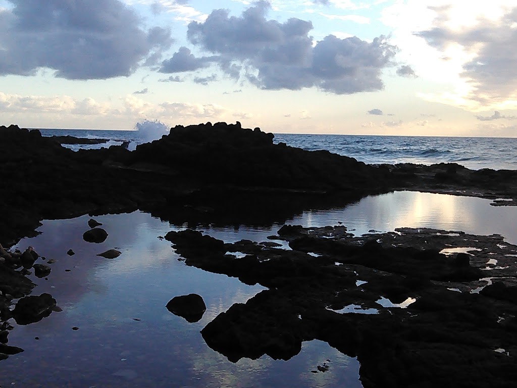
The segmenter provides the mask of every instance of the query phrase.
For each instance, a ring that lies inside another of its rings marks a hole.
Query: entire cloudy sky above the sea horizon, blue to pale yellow
[[[517,137],[515,0],[0,0],[0,125]]]

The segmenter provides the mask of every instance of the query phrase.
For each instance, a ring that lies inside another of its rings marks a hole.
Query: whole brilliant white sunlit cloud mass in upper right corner
[[[382,21],[393,28],[399,58],[435,85],[417,95],[471,111],[508,110],[517,108],[516,6],[515,0],[400,0]]]

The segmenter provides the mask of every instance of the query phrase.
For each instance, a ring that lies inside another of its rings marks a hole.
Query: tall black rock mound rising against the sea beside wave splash
[[[238,122],[176,126],[121,161],[127,166],[166,166],[179,178],[195,177],[204,185],[362,191],[383,187],[386,181],[377,167],[328,151],[273,144],[273,137],[258,128],[241,128]]]

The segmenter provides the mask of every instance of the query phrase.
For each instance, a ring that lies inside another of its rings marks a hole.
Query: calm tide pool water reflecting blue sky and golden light
[[[498,233],[515,243],[516,215],[515,207],[495,207],[477,198],[394,192],[364,198],[344,209],[305,212],[290,223],[345,225],[356,234],[398,227]],[[95,218],[109,233],[102,244],[83,241],[88,216],[44,221],[39,229],[42,234],[18,244],[21,249],[32,245],[47,259],[57,260],[51,264],[48,280],[34,278],[38,286],[33,294],[51,293],[63,311],[15,327],[9,345],[25,352],[0,362],[0,385],[277,387],[292,381],[292,386],[301,387],[361,386],[357,360],[316,340],[302,344],[300,354],[289,361],[263,356],[229,362],[206,346],[200,330],[232,304],[244,303],[264,288],[178,261],[171,244],[158,238],[178,228],[149,214]],[[227,242],[265,241],[280,226],[208,227],[203,231]],[[96,256],[111,248],[122,255],[113,260]],[[75,255],[68,256],[68,249]],[[165,308],[172,297],[191,292],[200,294],[207,305],[196,323]],[[72,330],[74,326],[79,330]],[[311,372],[324,362],[330,366],[327,372]]]

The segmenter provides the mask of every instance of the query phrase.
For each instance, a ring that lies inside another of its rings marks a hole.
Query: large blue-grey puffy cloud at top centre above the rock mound
[[[393,66],[396,53],[386,37],[367,42],[328,35],[313,46],[311,22],[268,20],[269,9],[269,3],[259,1],[241,16],[216,9],[205,22],[191,22],[189,41],[214,55],[190,59],[200,64],[210,58],[226,76],[248,80],[261,89],[315,86],[335,94],[383,89],[382,70]]]

